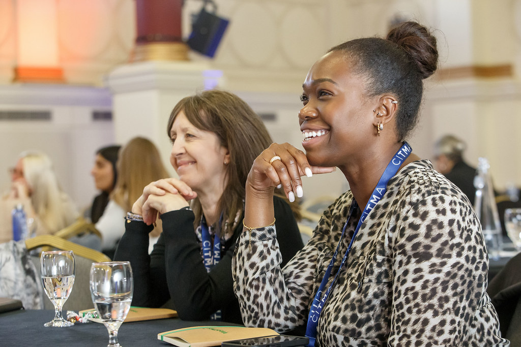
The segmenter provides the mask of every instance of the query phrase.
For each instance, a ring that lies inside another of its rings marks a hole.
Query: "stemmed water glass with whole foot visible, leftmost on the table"
[[[54,305],[54,319],[46,327],[70,327],[74,325],[61,315],[61,307],[69,298],[74,284],[76,263],[72,251],[42,252],[40,269],[43,288]]]

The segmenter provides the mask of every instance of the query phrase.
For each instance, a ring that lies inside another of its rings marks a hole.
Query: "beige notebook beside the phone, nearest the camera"
[[[224,341],[279,335],[268,328],[201,326],[165,331],[157,339],[179,347],[220,346]]]

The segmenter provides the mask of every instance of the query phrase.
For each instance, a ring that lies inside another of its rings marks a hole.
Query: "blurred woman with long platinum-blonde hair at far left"
[[[13,238],[10,211],[19,203],[33,221],[29,236],[54,234],[76,221],[76,205],[59,186],[51,159],[43,152],[21,153],[10,173],[11,187],[2,199],[2,241]]]

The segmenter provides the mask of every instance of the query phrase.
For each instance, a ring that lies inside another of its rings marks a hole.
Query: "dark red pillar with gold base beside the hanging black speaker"
[[[182,41],[183,0],[135,0],[137,37],[131,61],[188,60]]]

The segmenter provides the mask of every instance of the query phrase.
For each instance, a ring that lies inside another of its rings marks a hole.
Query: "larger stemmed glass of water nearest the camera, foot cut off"
[[[130,262],[92,263],[90,287],[98,317],[108,330],[107,347],[116,347],[118,329],[127,317],[134,291]]]

